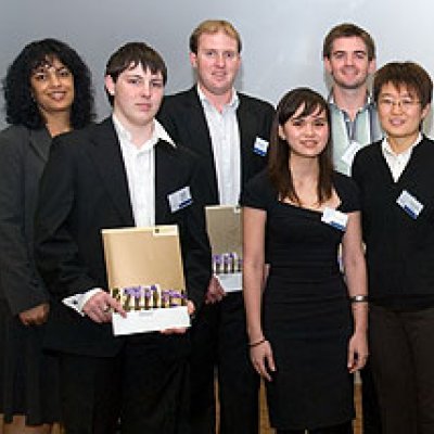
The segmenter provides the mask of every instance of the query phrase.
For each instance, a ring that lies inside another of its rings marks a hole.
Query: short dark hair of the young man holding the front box
[[[163,84],[167,82],[167,67],[163,58],[152,47],[144,42],[128,42],[116,50],[108,59],[105,67],[105,76],[112,77],[116,82],[119,75],[130,67],[142,65],[143,69],[150,69],[152,74],[162,73]],[[106,90],[110,103],[114,98]]]

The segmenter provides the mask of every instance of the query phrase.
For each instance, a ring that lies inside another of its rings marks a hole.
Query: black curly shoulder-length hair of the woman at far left
[[[24,125],[30,129],[42,128],[46,119],[33,99],[30,76],[44,65],[47,60],[62,62],[74,77],[74,102],[71,111],[71,126],[82,128],[93,117],[93,89],[88,66],[65,42],[47,38],[28,43],[8,67],[4,77],[3,93],[7,122],[12,125]]]

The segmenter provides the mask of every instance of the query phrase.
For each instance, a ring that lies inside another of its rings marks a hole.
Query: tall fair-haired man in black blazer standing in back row
[[[275,111],[234,89],[241,38],[226,21],[201,23],[190,37],[190,62],[197,82],[164,99],[158,119],[170,137],[190,148],[205,168],[207,205],[237,205],[245,182],[267,162]],[[193,433],[215,432],[215,368],[220,433],[258,432],[258,376],[247,347],[241,288],[226,293],[213,278],[192,329]]]

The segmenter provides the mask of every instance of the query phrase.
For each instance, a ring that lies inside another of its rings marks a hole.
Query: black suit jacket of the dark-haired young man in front
[[[197,306],[210,275],[202,204],[195,201],[194,158],[180,146],[155,148],[155,224],[179,227],[189,297]],[[167,195],[190,186],[193,204],[171,213]],[[36,261],[54,303],[47,345],[84,355],[115,354],[123,339],[61,299],[107,288],[101,229],[135,226],[125,166],[112,119],[53,141],[40,184]],[[169,266],[169,264],[168,264]],[[145,339],[145,336],[143,336]]]

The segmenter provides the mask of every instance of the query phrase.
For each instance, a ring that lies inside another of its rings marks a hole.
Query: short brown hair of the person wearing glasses
[[[382,66],[373,78],[373,99],[378,102],[384,85],[391,82],[397,89],[406,87],[414,92],[421,106],[425,107],[433,98],[433,81],[427,72],[413,62],[390,62]]]

